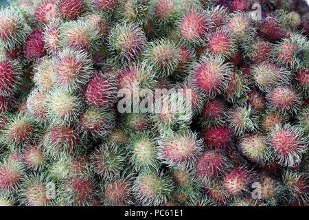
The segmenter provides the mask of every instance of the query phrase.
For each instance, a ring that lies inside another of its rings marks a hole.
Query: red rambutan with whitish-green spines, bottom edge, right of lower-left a
[[[71,177],[58,191],[60,206],[93,206],[97,194],[92,177]]]

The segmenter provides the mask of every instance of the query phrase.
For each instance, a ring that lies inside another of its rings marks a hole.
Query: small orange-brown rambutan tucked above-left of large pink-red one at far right
[[[260,129],[265,132],[271,132],[276,125],[283,125],[287,121],[285,115],[277,111],[267,111],[261,116]]]

